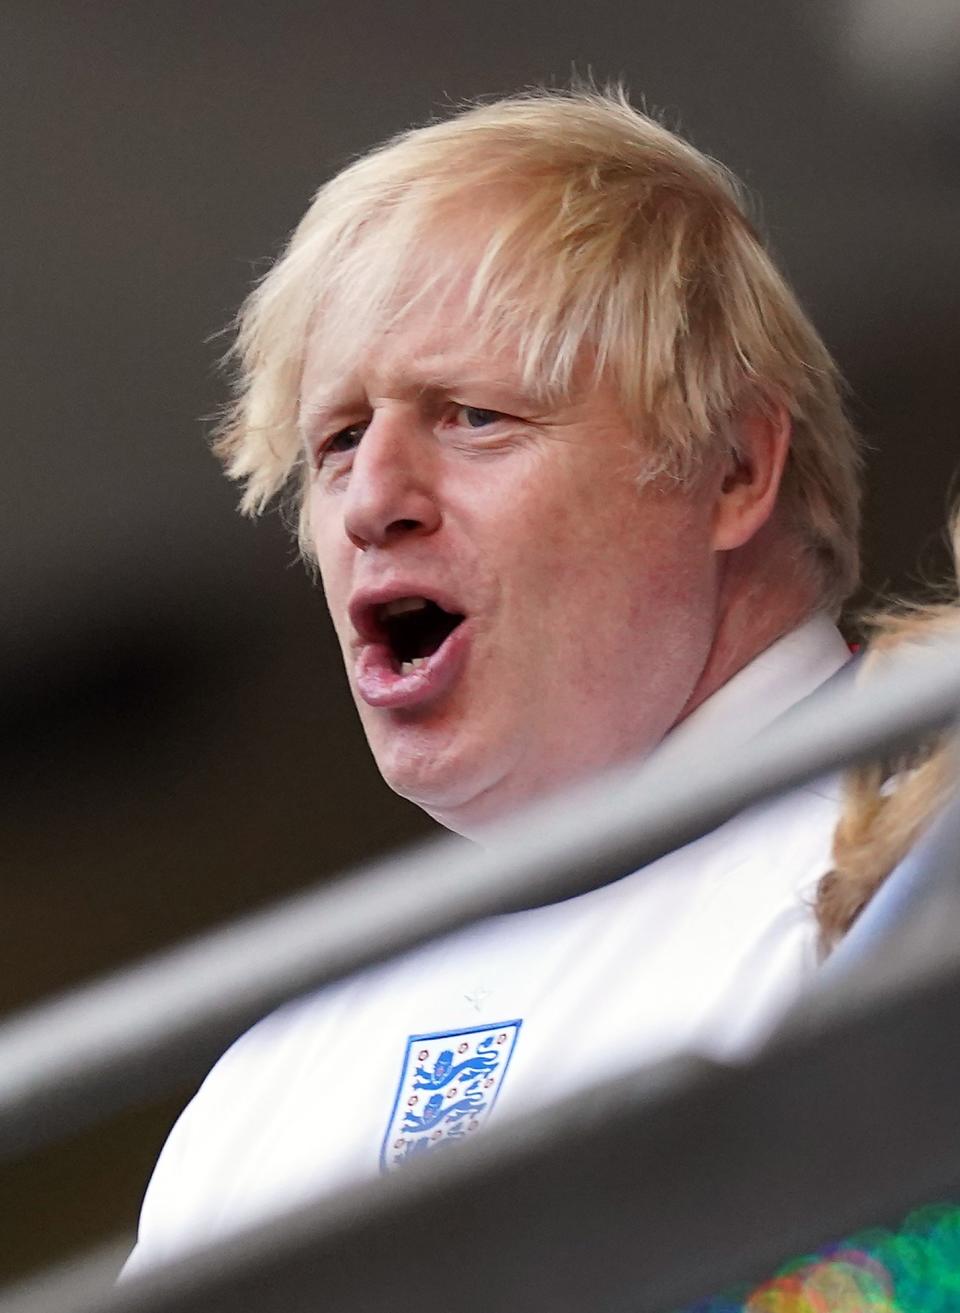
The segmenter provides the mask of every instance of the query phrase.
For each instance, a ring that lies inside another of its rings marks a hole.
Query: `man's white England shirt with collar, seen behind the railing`
[[[848,659],[825,616],[661,746],[735,751]],[[498,916],[274,1012],[221,1058],[150,1183],[126,1272],[678,1050],[746,1052],[814,969],[835,781],[578,898]]]

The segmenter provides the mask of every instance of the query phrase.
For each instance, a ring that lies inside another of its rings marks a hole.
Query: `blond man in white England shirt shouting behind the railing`
[[[846,660],[833,364],[730,179],[616,95],[474,108],[344,169],[238,360],[244,506],[294,484],[377,763],[452,830],[665,739],[735,751]],[[171,1137],[134,1267],[494,1107],[741,1052],[816,962],[834,821],[802,790],[261,1023]]]

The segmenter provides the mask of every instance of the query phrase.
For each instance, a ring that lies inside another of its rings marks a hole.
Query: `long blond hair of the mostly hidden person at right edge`
[[[952,519],[953,569],[960,582],[960,507]],[[956,633],[956,593],[932,605],[904,604],[871,617],[873,635],[859,678],[894,649]],[[834,868],[817,890],[821,947],[846,935],[893,868],[904,860],[956,786],[951,731],[931,735],[906,752],[848,771],[843,810],[834,832]]]

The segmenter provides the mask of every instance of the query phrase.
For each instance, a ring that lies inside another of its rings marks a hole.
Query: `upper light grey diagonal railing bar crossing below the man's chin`
[[[278,1003],[482,916],[595,889],[762,798],[951,722],[960,638],[834,684],[734,760],[621,768],[499,826],[441,839],[41,1004],[0,1028],[0,1157],[204,1071]],[[720,747],[720,746],[718,746]]]

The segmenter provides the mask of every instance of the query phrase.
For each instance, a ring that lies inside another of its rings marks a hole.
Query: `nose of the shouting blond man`
[[[440,528],[436,453],[431,436],[403,414],[374,414],[353,456],[344,529],[365,551]]]

